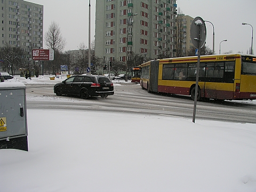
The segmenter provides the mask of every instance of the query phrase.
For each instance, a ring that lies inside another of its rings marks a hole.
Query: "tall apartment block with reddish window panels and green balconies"
[[[174,57],[176,0],[96,0],[95,55],[126,62]]]

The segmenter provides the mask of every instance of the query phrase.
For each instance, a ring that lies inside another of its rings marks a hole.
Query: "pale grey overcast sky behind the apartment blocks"
[[[102,0],[105,1],[105,0]],[[138,1],[138,0],[135,0]],[[66,38],[65,50],[76,50],[80,43],[89,44],[89,0],[30,0],[44,5],[44,33],[52,21],[59,24],[62,36]],[[211,21],[215,31],[215,53],[232,50],[246,53],[251,47],[252,28],[243,26],[242,22],[250,23],[256,31],[256,1],[255,0],[177,0],[178,7],[185,15],[201,17]],[[91,0],[91,41],[95,30],[95,0]],[[206,45],[212,49],[211,23],[206,23]],[[255,33],[254,33],[255,34]],[[45,45],[44,45],[45,47]],[[46,47],[45,47],[46,48]],[[256,35],[253,40],[254,54],[256,53]]]

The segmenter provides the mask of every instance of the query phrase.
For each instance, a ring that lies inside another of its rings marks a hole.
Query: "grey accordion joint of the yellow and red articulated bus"
[[[151,61],[148,91],[158,92],[159,60]]]

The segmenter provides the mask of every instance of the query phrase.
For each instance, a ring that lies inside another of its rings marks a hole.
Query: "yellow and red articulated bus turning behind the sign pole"
[[[148,61],[141,65],[140,85],[148,92],[191,95],[195,99],[197,56]],[[197,100],[256,99],[256,56],[203,55]]]

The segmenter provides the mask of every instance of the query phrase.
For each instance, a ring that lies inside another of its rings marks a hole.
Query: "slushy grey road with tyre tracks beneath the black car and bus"
[[[119,84],[118,84],[119,85]],[[115,86],[107,99],[58,97],[53,85],[27,84],[28,109],[95,110],[192,118],[194,101],[180,95],[160,95],[142,90],[139,84]],[[61,105],[60,105],[61,101]],[[196,118],[214,121],[256,123],[255,101],[197,102]]]

